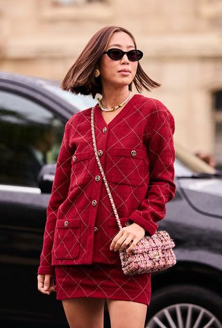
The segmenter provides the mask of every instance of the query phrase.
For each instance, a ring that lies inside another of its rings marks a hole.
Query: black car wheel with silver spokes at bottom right
[[[207,288],[174,285],[155,291],[145,328],[221,328],[222,298]]]

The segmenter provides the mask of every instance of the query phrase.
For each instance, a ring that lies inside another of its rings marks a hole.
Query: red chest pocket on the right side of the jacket
[[[117,184],[139,186],[144,183],[146,151],[131,147],[114,149],[110,180]]]

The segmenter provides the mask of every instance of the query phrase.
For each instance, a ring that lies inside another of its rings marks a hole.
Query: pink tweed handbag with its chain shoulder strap
[[[97,154],[96,137],[94,131],[94,108],[92,108],[91,111],[91,129],[96,161],[99,165],[99,170],[101,171],[118,227],[121,230],[122,226],[117,213],[117,208],[114,205],[110,188]],[[130,254],[127,254],[126,251],[119,252],[123,273],[133,275],[162,271],[171,268],[174,264],[176,264],[176,256],[173,252],[173,247],[175,247],[175,244],[167,231],[157,231],[153,234],[153,236],[144,236],[144,238],[139,240],[135,249],[133,249]]]

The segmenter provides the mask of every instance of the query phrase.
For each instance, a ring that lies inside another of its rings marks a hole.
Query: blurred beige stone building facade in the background
[[[0,70],[61,81],[105,25],[135,35],[175,140],[222,165],[221,0],[0,0]]]

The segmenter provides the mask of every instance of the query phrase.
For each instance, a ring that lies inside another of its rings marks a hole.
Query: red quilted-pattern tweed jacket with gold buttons
[[[94,156],[90,113],[76,113],[65,126],[38,274],[53,274],[53,265],[119,261],[109,248],[119,228]],[[152,235],[176,189],[171,112],[157,99],[134,95],[109,124],[97,104],[94,124],[123,227],[136,222]]]

